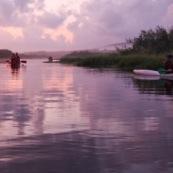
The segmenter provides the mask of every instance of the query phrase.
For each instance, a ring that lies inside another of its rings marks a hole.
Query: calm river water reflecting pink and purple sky
[[[1,173],[172,173],[173,82],[0,64]]]

